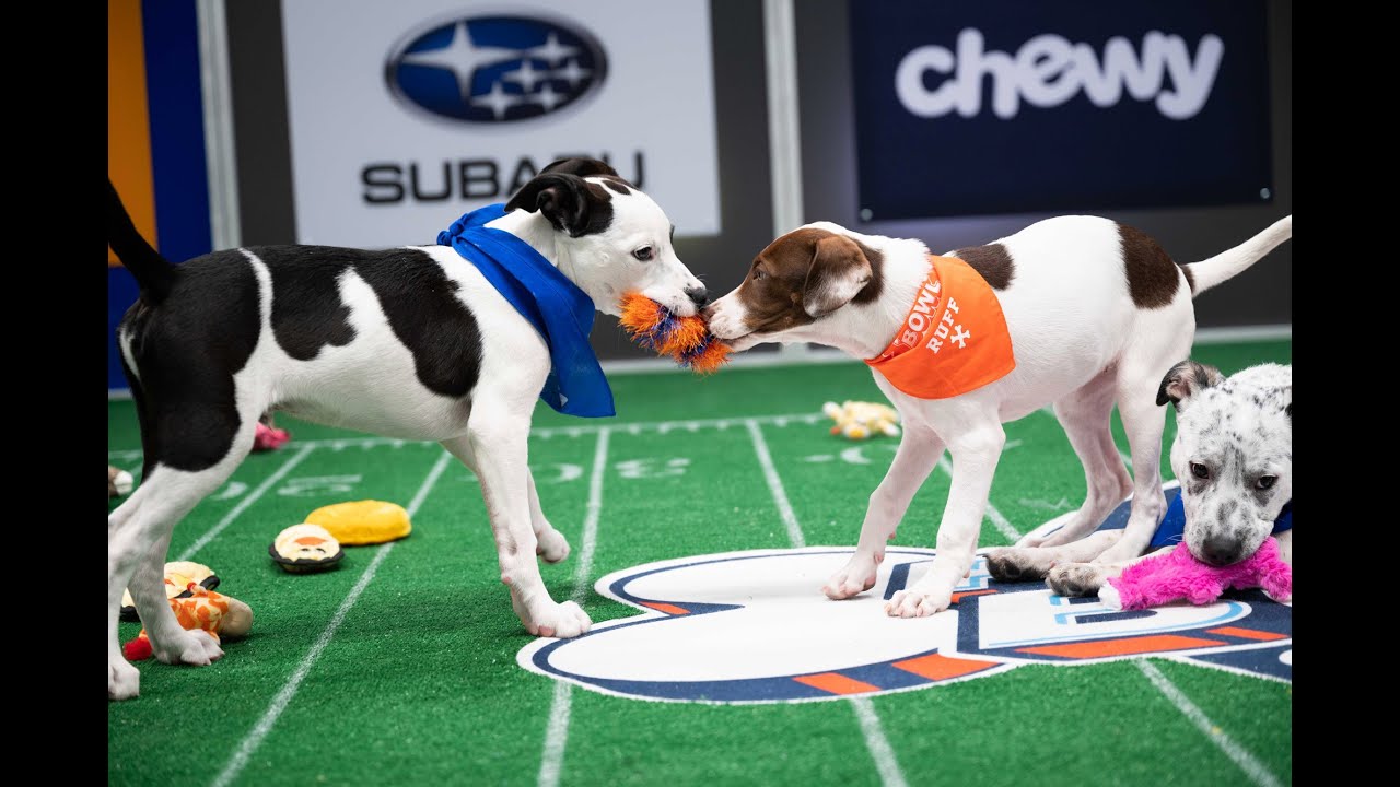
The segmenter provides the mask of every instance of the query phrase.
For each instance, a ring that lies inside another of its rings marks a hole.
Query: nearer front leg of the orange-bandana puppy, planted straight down
[[[963,416],[973,416],[974,420],[962,420]],[[885,612],[890,616],[924,618],[948,609],[953,588],[972,570],[981,517],[1007,433],[994,410],[959,413],[959,422],[960,431],[948,440],[953,483],[938,527],[938,555],[923,578],[885,602]]]

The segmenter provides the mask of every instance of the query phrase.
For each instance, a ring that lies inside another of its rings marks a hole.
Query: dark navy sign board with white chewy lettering
[[[850,15],[862,220],[1271,199],[1261,0]]]

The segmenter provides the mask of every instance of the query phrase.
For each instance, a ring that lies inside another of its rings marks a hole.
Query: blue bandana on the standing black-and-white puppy
[[[570,416],[616,415],[608,378],[588,344],[592,298],[525,241],[484,227],[501,216],[501,203],[473,210],[438,232],[438,245],[475,265],[549,344],[552,365],[539,392],[545,403]]]

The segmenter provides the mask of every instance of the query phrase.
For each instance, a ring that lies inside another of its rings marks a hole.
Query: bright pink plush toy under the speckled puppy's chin
[[[1249,560],[1217,569],[1191,555],[1186,543],[1166,555],[1128,566],[1103,584],[1099,601],[1113,609],[1147,609],[1184,598],[1200,606],[1226,588],[1264,588],[1274,601],[1294,597],[1294,569],[1278,556],[1278,541],[1266,538]]]

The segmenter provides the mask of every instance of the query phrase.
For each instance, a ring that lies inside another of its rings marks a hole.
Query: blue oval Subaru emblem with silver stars
[[[608,73],[587,31],[524,15],[455,17],[410,32],[385,64],[405,105],[468,123],[512,123],[573,106]]]

